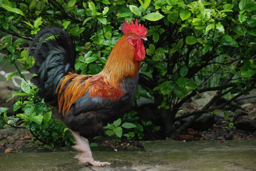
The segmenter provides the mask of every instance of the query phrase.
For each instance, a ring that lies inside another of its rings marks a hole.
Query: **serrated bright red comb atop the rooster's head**
[[[135,24],[132,21],[132,19],[131,19],[131,24],[129,24],[125,20],[125,23],[123,23],[121,25],[121,30],[124,34],[135,33],[135,34],[137,34],[139,36],[143,36],[143,37],[146,37],[146,35],[147,35],[147,29],[143,25],[138,24],[137,19],[135,20]]]

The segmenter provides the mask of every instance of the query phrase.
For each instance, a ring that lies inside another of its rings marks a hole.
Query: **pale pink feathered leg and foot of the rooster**
[[[70,131],[73,134],[74,138],[76,139],[76,145],[74,145],[73,148],[76,151],[79,151],[79,154],[76,155],[75,157],[79,159],[79,162],[88,163],[95,167],[100,167],[102,165],[111,165],[109,162],[95,161],[93,159],[93,155],[90,150],[88,139],[81,137],[78,133],[74,132],[73,130],[70,130]]]

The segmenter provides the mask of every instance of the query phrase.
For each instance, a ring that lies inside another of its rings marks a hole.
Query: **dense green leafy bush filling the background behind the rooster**
[[[1,0],[0,7],[0,35],[8,35],[1,39],[6,55],[0,64],[22,66],[9,78],[24,78],[21,72],[34,63],[27,57],[29,41],[50,26],[75,37],[77,72],[97,74],[122,36],[124,19],[138,19],[148,29],[148,41],[137,99],[154,99],[157,108],[152,110],[162,119],[165,136],[175,137],[201,114],[223,108],[255,88],[254,0]],[[202,110],[175,117],[186,101],[207,91],[216,95]],[[227,101],[212,107],[220,98]],[[188,116],[194,117],[173,128],[175,121]]]

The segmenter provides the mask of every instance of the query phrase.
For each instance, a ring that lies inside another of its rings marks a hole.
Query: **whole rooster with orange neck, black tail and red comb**
[[[137,20],[135,24],[125,20],[121,30],[124,35],[113,47],[102,72],[96,75],[76,74],[75,43],[62,29],[42,30],[29,47],[30,54],[37,44],[31,53],[37,63],[31,71],[37,76],[31,82],[39,87],[39,96],[59,107],[64,124],[76,139],[76,158],[93,166],[110,163],[95,161],[84,137],[97,133],[132,103],[138,89],[140,63],[145,58],[143,41],[147,40],[147,29]]]

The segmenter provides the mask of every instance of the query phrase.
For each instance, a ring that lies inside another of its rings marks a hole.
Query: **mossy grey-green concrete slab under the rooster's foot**
[[[94,151],[96,160],[111,162],[99,168],[78,163],[73,151],[2,153],[0,171],[256,171],[255,141],[142,144],[146,151]]]

